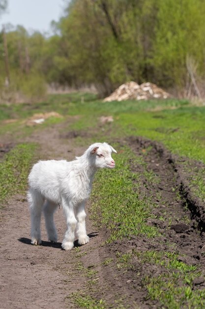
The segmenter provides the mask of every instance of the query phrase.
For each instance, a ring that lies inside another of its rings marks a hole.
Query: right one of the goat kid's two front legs
[[[78,205],[76,209],[76,217],[78,220],[77,223],[77,234],[78,234],[78,243],[79,245],[85,245],[89,241],[89,236],[86,232],[86,212],[85,212],[85,203]]]

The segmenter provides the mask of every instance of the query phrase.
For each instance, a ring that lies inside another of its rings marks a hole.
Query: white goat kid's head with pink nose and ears
[[[112,152],[117,151],[107,143],[95,143],[88,148],[88,152],[97,168],[114,168],[115,161],[112,158]]]

